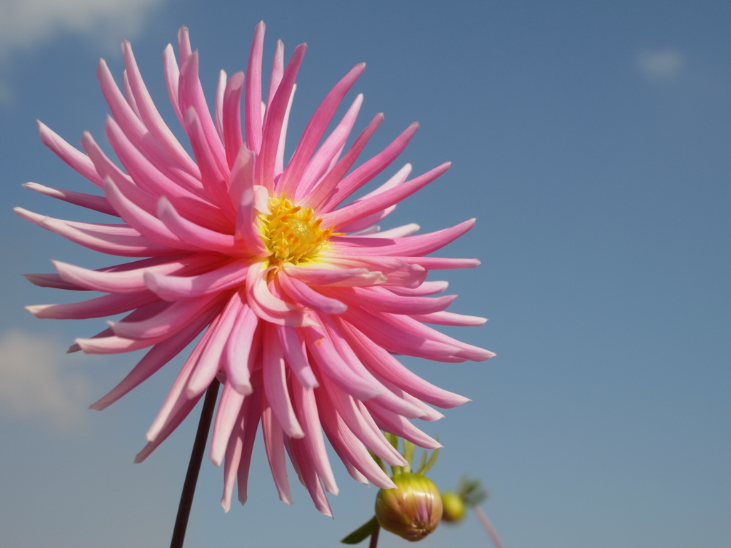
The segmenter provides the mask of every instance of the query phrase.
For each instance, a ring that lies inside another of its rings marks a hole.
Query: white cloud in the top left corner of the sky
[[[63,32],[105,39],[135,34],[163,0],[0,0],[0,61]]]

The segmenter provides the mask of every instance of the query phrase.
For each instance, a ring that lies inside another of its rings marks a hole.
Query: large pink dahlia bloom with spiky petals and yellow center
[[[118,167],[90,134],[83,151],[39,123],[42,141],[103,195],[26,187],[121,218],[111,224],[64,221],[16,208],[18,215],[72,242],[134,258],[99,270],[55,262],[57,273],[29,274],[38,286],[106,293],[82,302],[28,307],[34,316],[102,318],[127,313],[69,351],[117,354],[149,349],[132,371],[91,407],[102,409],[145,381],[189,346],[193,349],[148,430],[148,457],[185,419],[211,384],[224,385],[213,423],[211,460],[223,464],[221,503],[246,501],[254,437],[261,422],[276,488],[290,503],[285,453],[317,509],[331,515],[325,491],[337,493],[324,430],[350,475],[394,487],[368,454],[404,465],[381,430],[414,444],[439,444],[408,419],[439,419],[431,406],[466,398],[429,384],[398,362],[406,354],[440,362],[484,360],[489,351],[425,324],[481,325],[485,319],[446,312],[447,283],[428,270],[470,268],[477,259],[426,256],[474,224],[414,236],[417,225],[380,231],[397,202],[442,175],[442,164],[409,179],[406,164],[382,186],[342,205],[404,150],[417,124],[351,170],[383,120],[377,114],[345,149],[363,102],[359,95],[327,138],[338,105],[363,72],[357,64],[325,97],[291,159],[284,163],[287,119],[306,45],[284,66],[277,43],[268,93],[262,96],[264,24],[254,32],[248,76],[221,71],[211,115],[187,28],[163,64],[170,102],[190,140],[189,156],[162,120],[123,42],[124,92],[107,64],[97,76],[112,115],[106,136]],[[243,123],[240,115],[243,100]],[[265,99],[265,102],[262,102]],[[137,259],[137,258],[140,259]]]

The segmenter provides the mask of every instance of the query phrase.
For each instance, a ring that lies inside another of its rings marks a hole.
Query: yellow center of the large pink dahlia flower
[[[311,208],[294,205],[286,197],[270,198],[269,210],[269,215],[259,216],[269,266],[311,262],[333,235],[332,229],[320,228],[322,219]]]

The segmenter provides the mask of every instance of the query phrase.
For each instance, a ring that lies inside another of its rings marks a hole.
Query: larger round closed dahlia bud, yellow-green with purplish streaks
[[[420,473],[393,476],[395,489],[382,489],[376,497],[379,525],[407,541],[420,541],[442,520],[442,497],[431,479]]]

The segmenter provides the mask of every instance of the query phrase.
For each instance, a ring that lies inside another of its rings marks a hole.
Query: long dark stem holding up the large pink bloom
[[[183,483],[183,492],[181,493],[181,502],[178,506],[178,517],[175,518],[173,540],[170,541],[170,548],[183,548],[185,532],[188,528],[188,518],[190,517],[190,508],[193,506],[195,485],[198,482],[200,463],[202,463],[203,453],[205,452],[205,442],[208,440],[208,430],[211,429],[213,408],[216,407],[216,399],[219,397],[220,384],[218,379],[214,378],[211,386],[205,392],[203,410],[200,413],[198,431],[195,434],[195,441],[193,442],[193,451],[190,455],[188,473],[186,473],[185,482]]]

